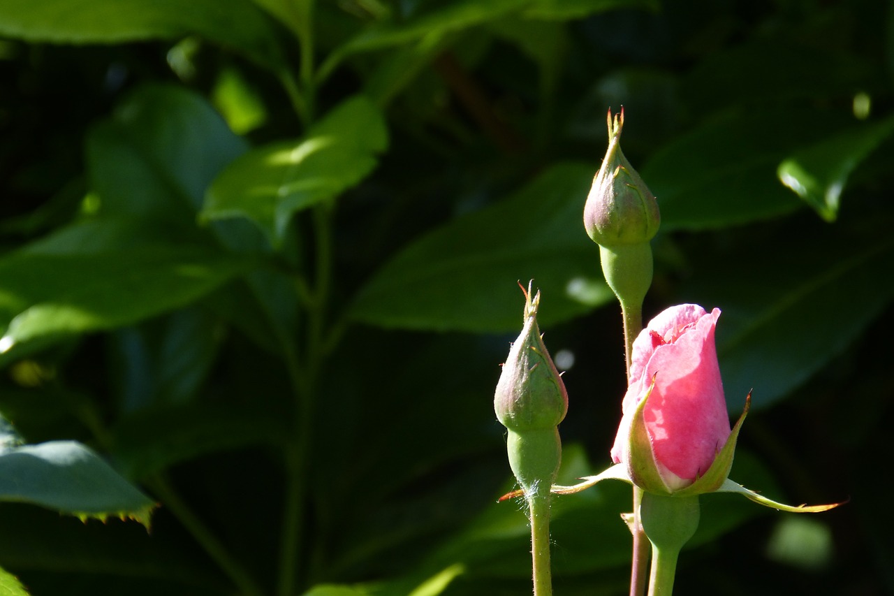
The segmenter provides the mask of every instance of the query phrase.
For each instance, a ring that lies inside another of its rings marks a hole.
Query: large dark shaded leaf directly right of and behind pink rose
[[[764,238],[688,285],[684,300],[722,311],[717,353],[730,412],[752,388],[754,408],[773,404],[844,351],[894,298],[892,260],[890,238]]]

